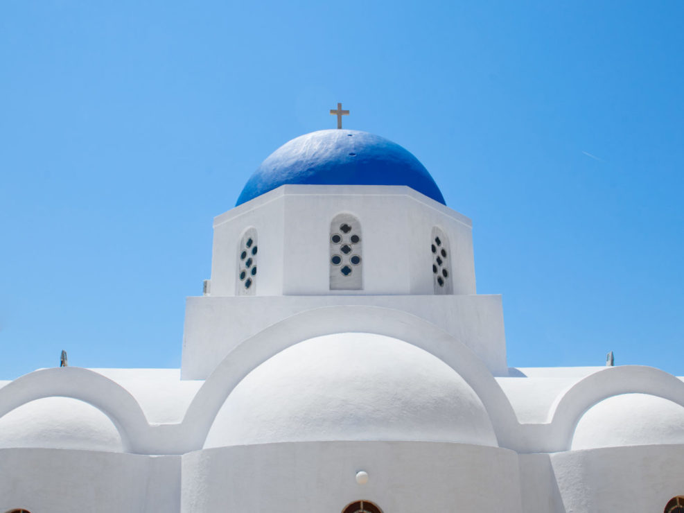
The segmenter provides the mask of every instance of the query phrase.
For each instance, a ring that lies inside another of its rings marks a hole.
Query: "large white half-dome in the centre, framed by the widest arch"
[[[204,448],[322,440],[498,445],[480,398],[439,358],[396,338],[337,333],[247,374]]]

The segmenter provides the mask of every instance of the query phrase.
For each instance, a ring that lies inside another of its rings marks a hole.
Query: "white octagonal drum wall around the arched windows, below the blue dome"
[[[330,294],[330,223],[345,212],[361,223],[363,287],[335,294],[431,295],[435,226],[450,241],[454,293],[475,293],[465,216],[405,186],[285,185],[216,217],[211,295],[235,295],[235,248],[250,226],[259,240],[256,295]]]

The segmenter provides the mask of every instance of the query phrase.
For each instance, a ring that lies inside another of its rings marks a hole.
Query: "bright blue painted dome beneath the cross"
[[[319,130],[283,144],[247,180],[236,207],[284,184],[406,185],[446,205],[416,157],[358,130]]]

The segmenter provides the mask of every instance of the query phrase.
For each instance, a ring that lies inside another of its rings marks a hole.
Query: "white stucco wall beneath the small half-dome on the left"
[[[0,449],[0,511],[170,513],[180,457],[68,449]]]

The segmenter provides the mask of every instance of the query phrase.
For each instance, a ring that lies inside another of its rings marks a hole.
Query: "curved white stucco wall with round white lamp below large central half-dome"
[[[356,482],[361,470],[366,485]],[[338,513],[360,499],[385,513],[522,512],[518,457],[436,442],[264,444],[183,456],[183,513]]]

